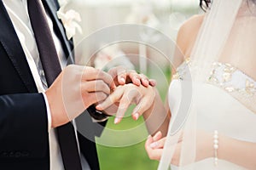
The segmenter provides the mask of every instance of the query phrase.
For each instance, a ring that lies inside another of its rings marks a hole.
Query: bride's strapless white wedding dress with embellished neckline
[[[176,78],[172,80],[169,88],[172,122],[177,118],[181,100],[185,95],[182,85],[191,83],[187,81],[189,77],[187,63],[184,62],[177,68]],[[195,96],[191,102],[195,105],[197,112],[197,128],[207,132],[218,130],[218,133],[230,138],[256,143],[256,82],[251,77],[232,65],[216,62],[212,64],[212,71],[207,81],[194,83],[193,91]],[[254,102],[248,102],[253,99]],[[222,147],[221,143],[219,147]],[[189,155],[189,150],[184,151]],[[229,161],[218,160],[218,167],[215,167],[213,162],[212,157],[178,169],[244,169]],[[175,166],[171,167],[172,170],[177,169]]]

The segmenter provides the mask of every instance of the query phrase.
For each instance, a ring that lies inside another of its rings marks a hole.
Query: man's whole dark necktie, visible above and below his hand
[[[61,73],[61,65],[55,49],[55,43],[49,30],[41,0],[28,0],[27,7],[45,78],[48,86],[50,86]],[[57,134],[65,169],[81,170],[78,143],[76,141],[73,124],[68,122],[66,125],[57,127]]]

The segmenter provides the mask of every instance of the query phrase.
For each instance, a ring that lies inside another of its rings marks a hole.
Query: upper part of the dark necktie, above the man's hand
[[[28,0],[27,8],[38,45],[38,53],[44,68],[45,78],[48,86],[50,86],[61,73],[61,65],[55,49],[55,43],[51,36],[41,1]]]

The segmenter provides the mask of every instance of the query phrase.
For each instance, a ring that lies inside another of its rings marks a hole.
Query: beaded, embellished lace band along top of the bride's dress
[[[188,76],[189,65],[190,60],[186,59],[182,65],[177,67],[177,73],[172,79],[185,79]],[[256,82],[235,66],[220,62],[212,63],[206,82],[224,89],[256,113]]]

